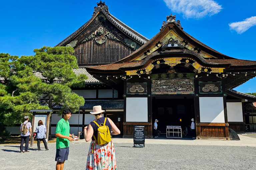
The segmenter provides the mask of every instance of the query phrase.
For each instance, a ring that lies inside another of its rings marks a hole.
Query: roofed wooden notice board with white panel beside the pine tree
[[[38,121],[41,120],[43,124],[46,126],[46,138],[47,138],[47,144],[48,144],[48,137],[49,137],[49,124],[50,124],[50,112],[53,110],[30,110],[30,112],[33,112],[32,117],[32,134],[30,139],[30,147],[33,147],[34,143],[34,137],[33,134],[36,131],[36,127],[38,125]]]

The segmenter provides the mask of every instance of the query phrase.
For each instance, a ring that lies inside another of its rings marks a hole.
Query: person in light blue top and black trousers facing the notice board
[[[37,133],[36,139],[37,139],[37,149],[38,149],[38,151],[41,150],[41,148],[40,148],[41,140],[43,140],[45,150],[49,150],[48,147],[47,147],[46,140],[45,140],[46,127],[45,127],[45,125],[43,125],[43,121],[41,121],[41,120],[38,121],[38,127],[36,127],[36,133]]]

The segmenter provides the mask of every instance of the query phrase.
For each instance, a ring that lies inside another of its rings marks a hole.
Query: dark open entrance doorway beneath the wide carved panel
[[[152,126],[157,119],[160,133],[166,133],[166,126],[189,130],[192,118],[195,119],[194,99],[152,99]]]

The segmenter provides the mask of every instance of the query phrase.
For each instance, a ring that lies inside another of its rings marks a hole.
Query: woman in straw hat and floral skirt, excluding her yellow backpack
[[[105,118],[101,115],[105,112],[101,109],[101,106],[94,106],[93,111],[90,112],[95,117],[95,122],[100,125],[104,124]],[[98,126],[93,122],[91,122],[88,126],[84,128],[84,138],[85,141],[89,141],[92,139],[86,163],[86,170],[93,169],[107,169],[107,170],[116,170],[116,157],[114,152],[114,145],[112,140],[106,144],[99,145],[96,140],[98,136]],[[106,126],[108,126],[111,134],[117,135],[120,134],[120,130],[116,127],[113,121],[109,118],[106,119]]]

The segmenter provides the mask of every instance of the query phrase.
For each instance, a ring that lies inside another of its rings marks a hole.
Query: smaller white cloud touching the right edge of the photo
[[[230,23],[228,25],[230,30],[235,30],[237,34],[242,34],[243,32],[247,31],[249,28],[256,25],[256,16],[246,18],[244,21]]]

